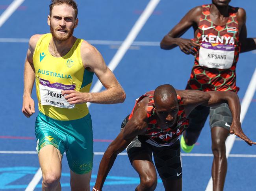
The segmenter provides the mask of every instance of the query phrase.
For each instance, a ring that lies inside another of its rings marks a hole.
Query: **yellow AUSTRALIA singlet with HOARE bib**
[[[56,120],[76,120],[89,113],[86,103],[69,104],[61,90],[89,92],[93,72],[83,67],[81,58],[82,39],[77,39],[63,57],[54,57],[48,47],[51,34],[42,35],[33,53],[35,83],[39,111]]]

